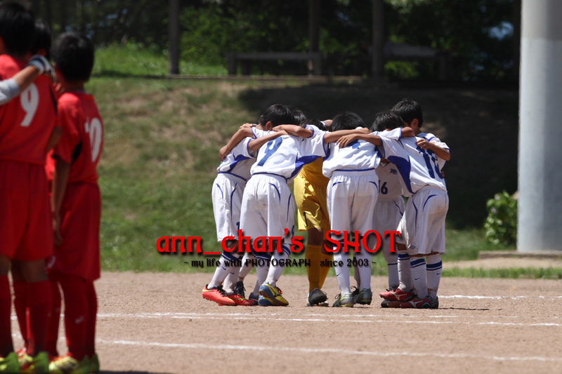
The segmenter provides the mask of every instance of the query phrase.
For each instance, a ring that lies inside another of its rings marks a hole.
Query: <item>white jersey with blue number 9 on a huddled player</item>
[[[310,125],[306,128],[313,131],[311,138],[282,135],[263,145],[259,149],[256,163],[251,167],[251,175],[261,173],[280,175],[288,183],[299,174],[304,165],[325,157],[325,131]]]

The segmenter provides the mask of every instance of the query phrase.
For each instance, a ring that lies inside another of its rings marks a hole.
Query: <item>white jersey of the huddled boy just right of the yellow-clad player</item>
[[[393,131],[375,131],[371,135],[386,136],[390,139],[400,139],[402,130],[396,128]],[[322,164],[322,173],[332,177],[334,171],[367,171],[374,170],[379,166],[381,156],[379,149],[371,142],[355,140],[346,147],[340,148],[335,142],[329,143],[329,156]]]

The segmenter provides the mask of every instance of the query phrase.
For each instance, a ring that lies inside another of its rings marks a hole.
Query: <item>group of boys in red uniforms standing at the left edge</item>
[[[92,42],[75,33],[61,34],[51,50],[51,32],[32,11],[0,3],[0,373],[100,370],[93,281],[100,277],[103,123],[84,91],[93,56]],[[25,344],[18,352],[9,271]],[[65,356],[57,352],[59,287]]]

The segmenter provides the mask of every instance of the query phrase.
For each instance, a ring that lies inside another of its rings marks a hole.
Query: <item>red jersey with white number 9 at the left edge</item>
[[[0,80],[10,79],[26,62],[0,55]],[[51,81],[39,76],[20,96],[0,106],[0,159],[44,165],[56,121]]]

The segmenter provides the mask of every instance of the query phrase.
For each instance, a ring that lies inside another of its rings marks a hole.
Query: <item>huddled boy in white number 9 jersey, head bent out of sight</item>
[[[244,236],[251,238],[252,248],[256,248],[254,244],[261,247],[256,241],[259,237],[282,238],[282,251],[277,251],[277,246],[273,246],[273,254],[255,253],[258,260],[256,271],[261,283],[259,305],[262,306],[289,304],[276,286],[285,268],[284,262],[289,258],[294,233],[295,207],[287,182],[296,177],[303,165],[326,156],[325,141],[334,141],[350,133],[325,133],[315,126],[302,128],[282,125],[274,128],[274,131],[282,130],[292,135],[271,140],[259,151],[257,161],[251,168],[251,178],[244,189],[240,215],[240,227]],[[271,266],[268,269],[266,263],[270,258]]]

